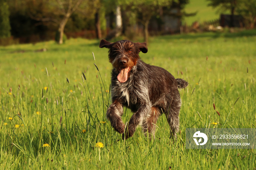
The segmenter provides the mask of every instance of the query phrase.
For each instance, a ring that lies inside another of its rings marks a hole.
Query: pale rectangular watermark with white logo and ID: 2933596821
[[[256,128],[187,128],[187,149],[253,149]]]

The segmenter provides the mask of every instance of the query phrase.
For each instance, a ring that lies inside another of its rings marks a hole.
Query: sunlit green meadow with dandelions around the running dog
[[[185,148],[186,128],[255,128],[255,41],[255,30],[150,39],[143,61],[189,82],[174,143],[165,116],[152,141],[140,127],[125,141],[113,131],[112,66],[99,40],[0,47],[0,169],[255,169],[255,149]]]

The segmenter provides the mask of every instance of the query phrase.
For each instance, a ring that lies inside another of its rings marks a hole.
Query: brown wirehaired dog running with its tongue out
[[[178,88],[185,88],[188,82],[177,78],[167,70],[144,63],[139,52],[147,53],[146,42],[133,43],[120,40],[114,43],[102,39],[100,48],[109,49],[112,63],[111,98],[106,117],[114,130],[123,139],[131,137],[141,124],[144,134],[155,139],[155,126],[159,116],[165,113],[170,126],[170,138],[177,138],[181,99]],[[127,126],[121,116],[123,107],[131,109],[133,115]]]

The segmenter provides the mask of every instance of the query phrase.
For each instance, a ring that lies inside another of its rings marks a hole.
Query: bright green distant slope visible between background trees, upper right
[[[209,20],[218,19],[221,12],[218,8],[207,6],[207,0],[190,0],[186,5],[185,11],[187,13],[197,12],[195,16],[185,17],[184,24],[191,25],[195,21],[204,22]]]

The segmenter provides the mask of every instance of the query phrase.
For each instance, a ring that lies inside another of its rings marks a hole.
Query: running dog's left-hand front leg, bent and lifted
[[[106,114],[114,130],[116,130],[120,134],[124,133],[124,127],[125,127],[121,119],[121,116],[123,115],[123,113],[124,113],[123,105],[118,101],[114,101],[109,106]]]

